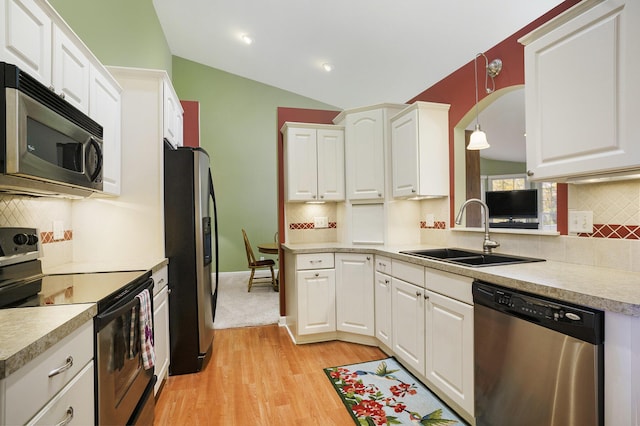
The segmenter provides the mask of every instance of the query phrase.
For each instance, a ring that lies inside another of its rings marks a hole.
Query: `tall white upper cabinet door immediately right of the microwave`
[[[103,191],[119,195],[121,187],[121,163],[122,163],[122,113],[120,88],[117,83],[107,78],[103,71],[91,67],[89,115],[104,130],[102,164]]]

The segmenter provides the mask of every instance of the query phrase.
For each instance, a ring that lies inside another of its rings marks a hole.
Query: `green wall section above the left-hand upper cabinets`
[[[171,51],[151,0],[49,0],[105,65],[166,70]]]

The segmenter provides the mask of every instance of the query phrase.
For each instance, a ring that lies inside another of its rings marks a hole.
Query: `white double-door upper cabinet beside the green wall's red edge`
[[[285,123],[282,134],[287,201],[344,200],[343,127]]]

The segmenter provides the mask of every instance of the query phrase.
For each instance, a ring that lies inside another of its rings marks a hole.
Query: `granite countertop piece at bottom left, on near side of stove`
[[[95,303],[0,309],[0,379],[92,321],[97,312]]]

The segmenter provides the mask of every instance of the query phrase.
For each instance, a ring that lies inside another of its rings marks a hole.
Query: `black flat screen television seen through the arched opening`
[[[538,190],[487,191],[485,201],[491,219],[532,219],[538,217]]]

